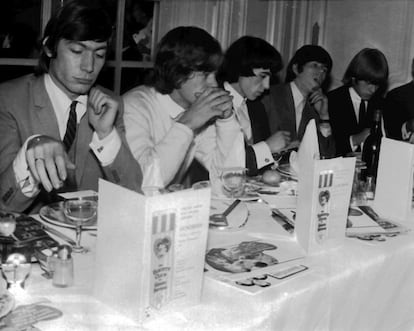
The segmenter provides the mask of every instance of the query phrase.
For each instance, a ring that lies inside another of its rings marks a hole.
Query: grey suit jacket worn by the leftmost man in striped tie
[[[109,91],[105,91],[109,92]],[[122,102],[119,103],[122,105]],[[115,161],[102,167],[89,148],[93,129],[88,116],[82,117],[75,141],[77,189],[98,189],[98,178],[105,178],[127,188],[140,191],[142,173],[130,152],[125,137],[122,109],[117,115],[116,128],[122,146]],[[13,160],[23,143],[32,135],[47,135],[61,140],[56,115],[46,92],[44,77],[24,76],[0,86],[0,208],[15,211],[32,211],[48,201],[42,192],[28,198],[16,183]],[[29,208],[29,209],[28,209]]]

